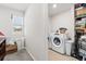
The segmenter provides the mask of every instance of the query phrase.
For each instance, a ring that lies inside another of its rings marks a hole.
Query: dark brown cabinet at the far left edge
[[[0,38],[0,61],[5,56],[5,38]]]

